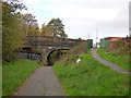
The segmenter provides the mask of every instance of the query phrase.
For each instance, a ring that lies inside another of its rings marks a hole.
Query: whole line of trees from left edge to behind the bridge
[[[46,25],[39,28],[36,16],[23,14],[22,10],[27,8],[15,0],[2,1],[2,60],[17,60],[16,51],[22,49],[27,36],[50,36],[67,38],[64,25],[60,19],[51,19]]]

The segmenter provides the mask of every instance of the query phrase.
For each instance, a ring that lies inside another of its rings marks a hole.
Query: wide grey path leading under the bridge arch
[[[44,66],[25,82],[16,96],[63,96],[51,66]]]

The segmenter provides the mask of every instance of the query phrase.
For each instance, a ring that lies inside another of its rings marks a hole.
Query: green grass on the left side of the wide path
[[[21,60],[13,63],[4,62],[2,65],[2,95],[10,96],[14,93],[38,66],[37,62],[29,60]]]

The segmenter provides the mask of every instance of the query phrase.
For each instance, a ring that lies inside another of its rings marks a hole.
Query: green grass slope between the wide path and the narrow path
[[[82,61],[75,63],[79,58]],[[67,96],[129,95],[129,76],[100,64],[90,53],[59,61],[53,71]]]

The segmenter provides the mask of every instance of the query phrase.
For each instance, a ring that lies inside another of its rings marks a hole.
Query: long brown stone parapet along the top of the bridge
[[[26,38],[27,45],[29,46],[56,46],[56,47],[73,47],[82,41],[79,39],[69,38],[55,38],[55,37],[43,37],[43,36],[31,36]]]

